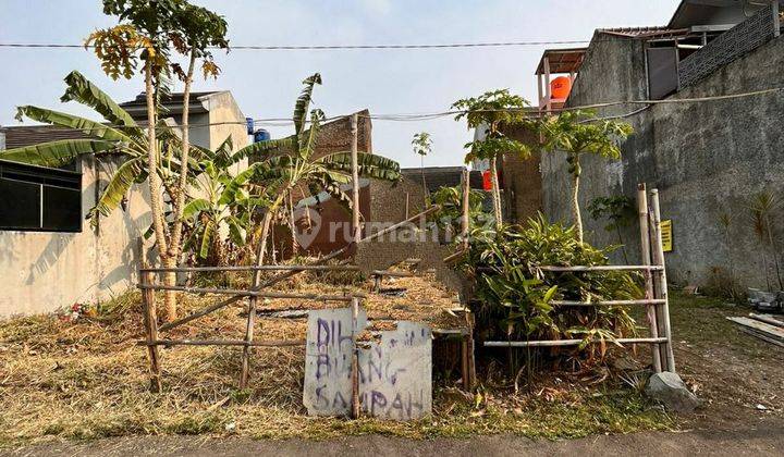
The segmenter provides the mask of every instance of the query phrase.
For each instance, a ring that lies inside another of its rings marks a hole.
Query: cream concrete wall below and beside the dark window
[[[101,218],[97,230],[84,220],[115,169],[112,162],[83,161],[81,233],[0,231],[0,317],[99,302],[136,281],[136,240],[151,222],[148,196],[134,186],[125,211]]]

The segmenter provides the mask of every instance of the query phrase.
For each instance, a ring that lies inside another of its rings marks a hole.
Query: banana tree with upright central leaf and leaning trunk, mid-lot
[[[221,165],[236,163],[248,157],[256,160],[226,186],[225,196],[230,199],[235,198],[234,193],[241,192],[247,184],[261,184],[266,188],[270,205],[261,225],[257,249],[259,264],[264,263],[264,252],[272,219],[287,198],[289,193],[295,190],[295,187],[307,187],[311,195],[327,192],[342,201],[348,201],[347,196],[341,190],[341,185],[352,181],[351,152],[316,157],[318,135],[324,115],[318,109],[309,111],[309,107],[314,87],[321,84],[321,75],[316,73],[305,79],[303,84],[305,87],[294,106],[293,135],[281,139],[259,141],[231,156],[219,155],[220,157],[216,158]],[[384,181],[397,181],[401,177],[400,164],[381,156],[359,152],[357,165],[359,175],[363,177]],[[292,230],[294,228],[292,227]]]

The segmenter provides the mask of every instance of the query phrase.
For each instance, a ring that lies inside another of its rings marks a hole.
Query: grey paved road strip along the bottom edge
[[[8,454],[8,453],[7,453]],[[592,436],[573,441],[531,441],[516,436],[481,436],[471,440],[411,441],[387,436],[353,436],[311,442],[209,440],[185,436],[140,436],[102,440],[88,444],[46,444],[15,449],[14,456],[527,456],[527,455],[784,455],[784,424],[760,422],[732,431],[687,431]]]

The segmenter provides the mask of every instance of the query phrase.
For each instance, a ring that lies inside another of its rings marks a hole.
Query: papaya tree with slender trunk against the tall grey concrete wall
[[[583,243],[583,218],[579,208],[579,184],[583,169],[580,157],[586,153],[612,160],[621,159],[621,143],[633,132],[632,126],[613,120],[595,120],[592,111],[565,111],[542,122],[547,150],[566,153],[572,175],[572,215],[577,240]]]

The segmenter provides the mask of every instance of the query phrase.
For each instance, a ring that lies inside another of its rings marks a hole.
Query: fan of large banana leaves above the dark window
[[[76,101],[93,108],[106,123],[46,108],[19,107],[19,121],[27,118],[58,127],[82,131],[85,138],[7,149],[0,151],[0,159],[52,168],[63,166],[86,156],[120,159],[120,166],[88,212],[90,222],[97,225],[101,215],[110,214],[120,206],[134,184],[147,180],[147,135],[131,114],[79,72],[70,73],[65,77],[65,84],[66,90],[61,101]],[[157,168],[157,174],[162,182],[171,182],[180,169],[180,139],[163,122],[159,123],[157,131],[158,150],[164,152],[161,155],[162,165]],[[201,172],[194,160],[188,161],[188,166],[195,174]]]

